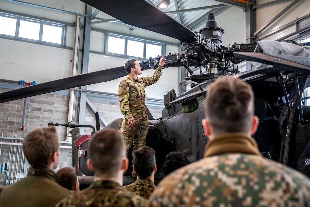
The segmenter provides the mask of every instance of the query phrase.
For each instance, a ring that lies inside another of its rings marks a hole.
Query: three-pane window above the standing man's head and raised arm
[[[114,53],[136,58],[155,58],[164,54],[163,43],[152,42],[144,39],[131,38],[121,35],[107,34],[106,53]]]

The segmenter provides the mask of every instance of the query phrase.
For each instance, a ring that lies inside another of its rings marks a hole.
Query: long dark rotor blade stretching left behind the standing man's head
[[[83,85],[91,85],[95,83],[111,81],[126,75],[128,74],[125,71],[124,66],[121,66],[101,71],[85,73],[77,76],[71,76],[67,78],[58,79],[55,81],[49,81],[1,93],[0,103],[22,99],[35,95],[51,93],[59,90],[80,87]]]

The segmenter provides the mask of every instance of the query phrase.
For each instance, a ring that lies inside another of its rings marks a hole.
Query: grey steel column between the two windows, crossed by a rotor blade
[[[91,15],[92,7],[85,5],[85,14]],[[88,61],[89,61],[89,45],[91,39],[91,19],[85,17],[85,29],[84,29],[84,39],[83,39],[83,52],[82,52],[82,69],[81,74],[88,72]],[[81,87],[82,90],[86,90],[86,86]],[[79,115],[78,115],[78,124],[85,125],[85,110],[86,110],[86,92],[80,94],[80,106],[79,106]],[[84,129],[81,129],[81,133],[84,133]]]

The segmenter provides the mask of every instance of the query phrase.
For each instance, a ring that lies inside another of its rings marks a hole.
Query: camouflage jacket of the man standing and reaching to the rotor
[[[135,79],[128,75],[118,86],[118,103],[124,118],[146,120],[145,87],[156,83],[162,75],[162,66],[158,66],[153,76]]]

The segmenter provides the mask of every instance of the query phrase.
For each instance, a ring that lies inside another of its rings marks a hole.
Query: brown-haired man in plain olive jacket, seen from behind
[[[31,165],[28,176],[7,186],[0,194],[0,206],[55,206],[72,191],[56,182],[60,142],[55,127],[28,133],[23,150]]]

